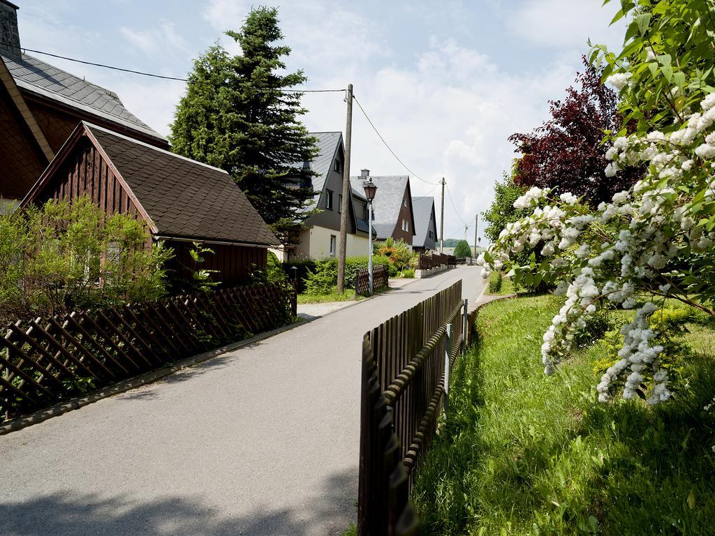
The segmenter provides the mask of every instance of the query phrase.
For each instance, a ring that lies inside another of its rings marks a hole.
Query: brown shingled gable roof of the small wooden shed
[[[59,164],[87,134],[159,237],[279,245],[240,187],[223,169],[173,154],[82,121],[22,202],[33,202]]]

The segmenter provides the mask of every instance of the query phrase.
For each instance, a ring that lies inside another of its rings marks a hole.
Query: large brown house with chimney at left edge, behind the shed
[[[169,148],[113,91],[22,54],[17,9],[0,0],[0,199],[25,197],[79,121]]]

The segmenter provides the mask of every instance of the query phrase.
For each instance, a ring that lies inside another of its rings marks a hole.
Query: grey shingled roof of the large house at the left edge
[[[124,108],[114,91],[92,84],[28,54],[22,54],[20,61],[8,56],[2,56],[2,59],[21,89],[139,131],[145,136],[164,140],[161,134]]]

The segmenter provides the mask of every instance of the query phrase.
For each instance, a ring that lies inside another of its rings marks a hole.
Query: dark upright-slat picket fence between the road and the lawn
[[[365,334],[360,536],[417,533],[418,519],[408,500],[413,471],[443,407],[446,358],[453,364],[468,340],[466,312],[459,281]]]

